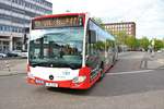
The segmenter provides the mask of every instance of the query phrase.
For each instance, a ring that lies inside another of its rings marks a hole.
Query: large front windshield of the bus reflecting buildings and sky
[[[32,66],[82,66],[83,27],[32,29],[28,61]]]

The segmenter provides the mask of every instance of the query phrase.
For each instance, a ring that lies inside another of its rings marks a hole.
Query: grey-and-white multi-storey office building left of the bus
[[[22,50],[31,19],[51,13],[46,0],[0,0],[0,52]]]

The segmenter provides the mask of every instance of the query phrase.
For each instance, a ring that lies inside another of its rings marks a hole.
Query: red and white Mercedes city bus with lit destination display
[[[32,20],[27,82],[47,87],[87,89],[117,59],[115,38],[87,13]]]

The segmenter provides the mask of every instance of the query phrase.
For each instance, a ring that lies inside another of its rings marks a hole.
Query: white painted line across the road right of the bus
[[[137,74],[137,73],[147,73],[153,70],[142,70],[142,71],[130,71],[130,72],[116,72],[116,73],[107,73],[106,75],[120,75],[120,74]]]

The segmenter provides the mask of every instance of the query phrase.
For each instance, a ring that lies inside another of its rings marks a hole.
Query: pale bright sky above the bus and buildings
[[[164,0],[48,0],[52,13],[89,12],[104,23],[136,22],[137,37],[164,38]]]

